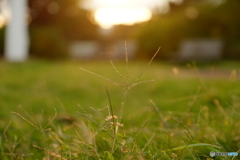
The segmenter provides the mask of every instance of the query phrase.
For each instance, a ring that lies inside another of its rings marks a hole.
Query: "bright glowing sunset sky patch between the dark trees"
[[[158,7],[168,11],[168,2],[181,0],[88,0],[84,7],[95,11],[95,20],[102,28],[108,29],[116,24],[133,24],[151,18],[151,9]]]

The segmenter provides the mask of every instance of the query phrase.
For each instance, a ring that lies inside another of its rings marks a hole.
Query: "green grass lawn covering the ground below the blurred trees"
[[[147,63],[1,61],[0,159],[239,159],[239,63],[79,68]]]

